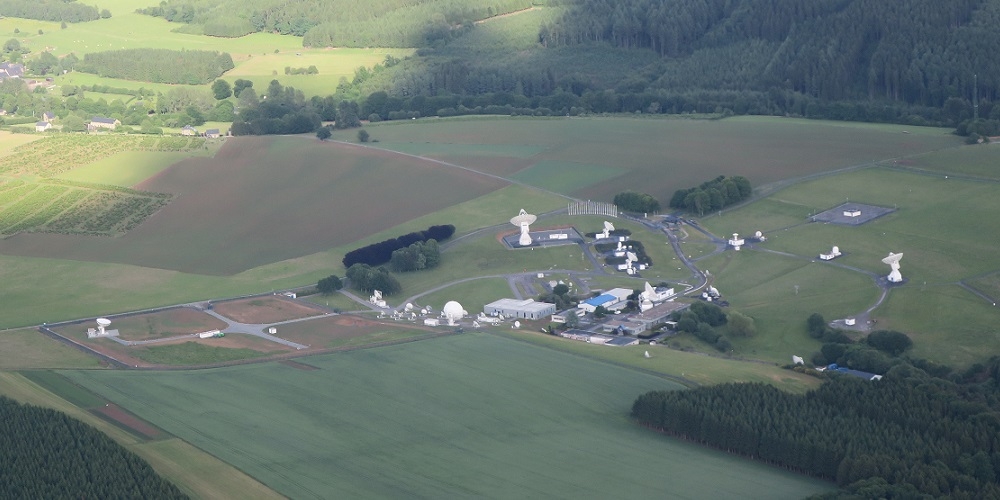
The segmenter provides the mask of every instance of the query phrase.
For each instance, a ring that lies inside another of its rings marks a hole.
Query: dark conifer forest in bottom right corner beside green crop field
[[[723,384],[636,399],[643,425],[835,480],[862,498],[1000,496],[1000,360],[968,380],[900,364],[869,382],[835,376],[793,395]],[[969,382],[974,380],[974,382]]]

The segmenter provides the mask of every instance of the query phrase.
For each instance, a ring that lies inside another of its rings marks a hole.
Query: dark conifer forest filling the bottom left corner
[[[0,498],[187,498],[97,429],[3,396],[0,450]]]

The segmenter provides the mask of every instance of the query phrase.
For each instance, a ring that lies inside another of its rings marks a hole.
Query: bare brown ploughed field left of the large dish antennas
[[[182,161],[140,183],[177,198],[120,238],[20,234],[0,240],[0,253],[230,275],[357,241],[504,185],[311,137],[238,137],[214,158]]]

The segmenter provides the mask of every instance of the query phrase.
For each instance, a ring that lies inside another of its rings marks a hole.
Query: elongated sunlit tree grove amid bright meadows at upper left
[[[209,83],[234,67],[226,52],[170,49],[91,52],[76,65],[77,71],[108,78],[188,85]]]

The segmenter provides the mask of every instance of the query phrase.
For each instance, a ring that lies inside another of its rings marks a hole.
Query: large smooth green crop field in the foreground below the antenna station
[[[636,395],[677,387],[663,379],[495,336],[308,364],[319,369],[64,373],[293,498],[802,498],[832,489],[631,424]],[[265,405],[251,396],[278,391]]]

